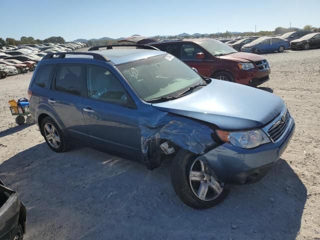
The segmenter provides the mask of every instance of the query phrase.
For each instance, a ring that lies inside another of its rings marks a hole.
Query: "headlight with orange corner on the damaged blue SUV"
[[[232,145],[241,148],[253,148],[270,142],[269,137],[261,129],[233,132],[216,130],[216,133],[222,141],[230,142]]]

